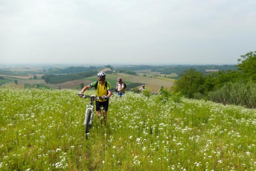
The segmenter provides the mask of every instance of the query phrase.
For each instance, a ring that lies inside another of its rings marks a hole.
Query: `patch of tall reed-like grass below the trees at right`
[[[256,107],[256,83],[252,80],[227,83],[220,89],[208,93],[208,98],[223,104]]]

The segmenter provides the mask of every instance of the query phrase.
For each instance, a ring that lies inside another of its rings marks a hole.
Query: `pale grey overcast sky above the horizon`
[[[256,0],[0,0],[0,64],[236,64]]]

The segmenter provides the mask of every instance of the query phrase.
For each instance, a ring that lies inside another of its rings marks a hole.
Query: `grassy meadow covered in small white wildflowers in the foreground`
[[[0,100],[0,170],[256,169],[256,110],[114,94],[86,140],[77,91],[2,87]]]

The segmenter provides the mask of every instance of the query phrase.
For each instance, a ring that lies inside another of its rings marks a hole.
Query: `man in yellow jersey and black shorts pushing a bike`
[[[111,97],[112,91],[111,91],[111,86],[110,86],[109,82],[106,81],[105,78],[106,78],[105,72],[99,72],[98,80],[93,82],[92,84],[89,84],[88,86],[85,86],[81,90],[80,94],[82,96],[84,91],[86,91],[88,88],[95,87],[96,96],[102,97],[102,99],[95,100],[96,112],[97,112],[97,115],[100,116],[100,107],[103,107],[103,110],[105,110],[105,112],[103,112],[103,118],[104,118],[104,122],[106,123],[109,97]]]

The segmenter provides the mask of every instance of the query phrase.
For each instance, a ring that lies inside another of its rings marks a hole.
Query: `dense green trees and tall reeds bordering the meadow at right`
[[[256,107],[256,51],[241,55],[236,66],[238,70],[209,74],[186,70],[172,91],[188,98]]]

